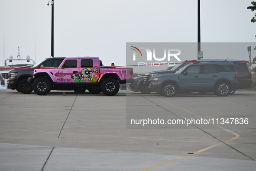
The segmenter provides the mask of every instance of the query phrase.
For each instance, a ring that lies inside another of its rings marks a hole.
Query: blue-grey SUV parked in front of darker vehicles
[[[237,71],[229,61],[190,63],[175,74],[149,75],[146,84],[165,97],[186,92],[214,92],[217,96],[227,96],[239,87]]]

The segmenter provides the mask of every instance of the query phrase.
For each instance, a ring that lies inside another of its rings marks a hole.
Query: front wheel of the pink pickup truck
[[[51,88],[52,88],[51,82],[44,77],[37,78],[33,83],[33,90],[38,95],[48,94],[51,91]]]

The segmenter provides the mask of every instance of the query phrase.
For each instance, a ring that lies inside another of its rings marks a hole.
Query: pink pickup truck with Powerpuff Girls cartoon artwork
[[[133,68],[100,66],[97,57],[67,57],[58,68],[39,68],[29,79],[38,95],[51,90],[74,90],[92,94],[103,92],[113,96],[119,91],[119,84],[126,84],[133,78]]]

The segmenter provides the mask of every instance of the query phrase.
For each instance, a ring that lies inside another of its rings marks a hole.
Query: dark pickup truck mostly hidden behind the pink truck
[[[27,80],[29,77],[32,77],[33,71],[37,68],[45,67],[55,67],[57,68],[65,57],[59,58],[46,58],[36,65],[30,68],[16,68],[9,71],[9,78],[7,81],[7,88],[12,90],[17,90],[23,94],[29,94],[32,92],[32,84]]]

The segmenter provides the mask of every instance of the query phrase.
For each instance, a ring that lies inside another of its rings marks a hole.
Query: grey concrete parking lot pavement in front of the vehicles
[[[0,90],[0,170],[253,171],[255,103],[253,91],[165,98],[126,90],[116,96]],[[130,124],[148,118],[187,122]],[[228,123],[232,118],[240,120]]]

